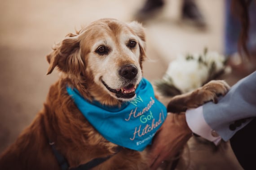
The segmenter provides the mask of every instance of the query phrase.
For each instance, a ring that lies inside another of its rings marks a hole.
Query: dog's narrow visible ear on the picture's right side
[[[132,21],[128,23],[131,29],[135,32],[135,34],[139,37],[139,46],[140,46],[140,60],[144,61],[146,58],[146,34],[143,26],[137,21]]]

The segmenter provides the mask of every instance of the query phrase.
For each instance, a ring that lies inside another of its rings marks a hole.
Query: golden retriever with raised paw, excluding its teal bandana
[[[57,68],[60,78],[51,85],[35,120],[0,155],[0,170],[75,170],[84,164],[95,170],[149,169],[147,149],[128,149],[107,140],[67,93],[71,87],[88,102],[117,109],[133,101],[143,79],[145,46],[143,27],[135,21],[100,19],[76,34],[67,34],[47,55],[47,74]],[[177,106],[174,111],[185,110],[227,90],[225,82],[213,81],[170,103]]]

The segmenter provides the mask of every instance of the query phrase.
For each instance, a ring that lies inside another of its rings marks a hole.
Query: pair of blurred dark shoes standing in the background
[[[164,4],[164,0],[146,0],[143,7],[136,13],[135,18],[141,22],[146,21],[157,15],[163,9]],[[194,0],[182,0],[181,19],[198,27],[206,26],[205,19]]]

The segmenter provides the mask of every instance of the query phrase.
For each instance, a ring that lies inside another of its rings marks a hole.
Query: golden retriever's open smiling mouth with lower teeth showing
[[[110,92],[115,93],[117,98],[132,98],[134,97],[135,89],[137,88],[137,85],[130,84],[121,89],[112,89],[103,80],[102,83]]]

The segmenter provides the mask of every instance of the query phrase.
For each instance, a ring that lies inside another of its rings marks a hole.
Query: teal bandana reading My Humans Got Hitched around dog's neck
[[[136,89],[137,97],[121,107],[89,102],[77,89],[67,87],[66,90],[84,117],[106,140],[128,149],[144,150],[167,116],[166,107],[154,97],[153,87],[145,78]]]

